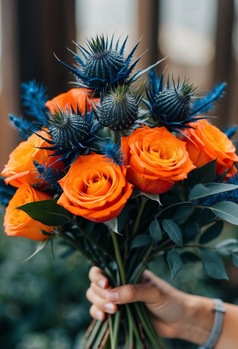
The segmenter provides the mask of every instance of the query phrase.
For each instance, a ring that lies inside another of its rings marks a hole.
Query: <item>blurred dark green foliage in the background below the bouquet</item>
[[[2,217],[0,221],[2,227]],[[90,264],[73,253],[62,258],[66,247],[56,241],[25,263],[38,242],[7,237],[1,229],[0,244],[0,336],[2,349],[80,349],[90,324]],[[219,239],[238,237],[238,227],[226,224]],[[214,240],[213,245],[219,240]],[[209,243],[211,245],[211,243]],[[175,287],[197,295],[222,298],[238,304],[238,269],[225,259],[230,280],[213,280],[201,263],[185,265],[171,281],[164,258],[150,263],[150,269]],[[168,341],[169,349],[195,349],[191,343]]]

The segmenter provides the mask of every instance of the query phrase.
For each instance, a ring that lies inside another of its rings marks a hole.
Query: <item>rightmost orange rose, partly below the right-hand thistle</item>
[[[206,119],[198,120],[188,124],[193,128],[186,128],[184,133],[189,137],[181,137],[187,143],[187,151],[194,165],[202,166],[211,160],[216,161],[216,172],[222,174],[231,169],[234,162],[238,161],[235,154],[236,148],[232,141],[219,128],[211,125]],[[233,166],[232,171],[227,173],[231,177],[236,173]]]

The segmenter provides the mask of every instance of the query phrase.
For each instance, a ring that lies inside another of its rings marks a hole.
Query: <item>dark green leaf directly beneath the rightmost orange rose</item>
[[[196,168],[188,174],[187,186],[192,188],[196,184],[206,184],[214,181],[216,170],[216,159]]]

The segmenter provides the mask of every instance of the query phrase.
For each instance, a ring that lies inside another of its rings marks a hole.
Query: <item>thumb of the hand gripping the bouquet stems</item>
[[[107,292],[106,298],[112,303],[126,304],[133,302],[154,303],[161,297],[155,284],[128,284],[113,288]]]

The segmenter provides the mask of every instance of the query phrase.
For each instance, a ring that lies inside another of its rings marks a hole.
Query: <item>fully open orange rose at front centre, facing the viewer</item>
[[[125,179],[126,168],[106,162],[100,155],[80,155],[64,178],[58,204],[74,215],[97,223],[119,215],[133,186]]]

